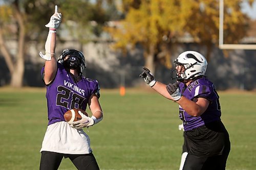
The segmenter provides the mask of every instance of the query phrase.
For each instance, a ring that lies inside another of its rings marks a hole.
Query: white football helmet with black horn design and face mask
[[[175,68],[170,70],[172,80],[191,80],[198,76],[204,76],[207,61],[205,57],[194,51],[181,53],[174,61]]]

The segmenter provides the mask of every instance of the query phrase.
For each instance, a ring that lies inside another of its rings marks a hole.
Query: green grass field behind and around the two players
[[[228,170],[256,169],[256,93],[219,92],[229,131]],[[101,123],[89,129],[101,169],[178,169],[182,132],[178,105],[154,91],[101,90]],[[45,89],[0,88],[0,169],[39,169],[47,128]],[[63,159],[59,169],[75,169]]]

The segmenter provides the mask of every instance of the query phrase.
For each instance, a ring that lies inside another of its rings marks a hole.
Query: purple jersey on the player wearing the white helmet
[[[179,116],[183,121],[185,131],[195,129],[207,123],[221,119],[219,95],[215,90],[214,84],[207,78],[203,77],[195,80],[193,83],[189,84],[188,87],[186,87],[184,83],[179,83],[179,87],[182,91],[182,95],[188,100],[192,101],[195,98],[205,98],[210,101],[206,111],[198,117],[187,114],[181,106],[179,107]]]

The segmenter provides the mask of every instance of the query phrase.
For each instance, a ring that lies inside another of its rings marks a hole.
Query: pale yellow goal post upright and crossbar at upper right
[[[220,0],[219,8],[220,20],[219,20],[219,48],[222,50],[256,50],[256,44],[224,44],[224,0]]]

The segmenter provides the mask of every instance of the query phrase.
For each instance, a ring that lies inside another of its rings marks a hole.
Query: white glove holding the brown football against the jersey
[[[83,114],[81,111],[78,111],[78,113],[82,116],[81,120],[78,120],[76,122],[72,122],[70,126],[75,129],[81,129],[81,128],[86,128],[89,126],[94,125],[94,120],[91,117],[86,116]]]

